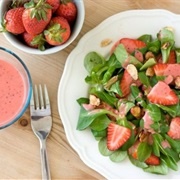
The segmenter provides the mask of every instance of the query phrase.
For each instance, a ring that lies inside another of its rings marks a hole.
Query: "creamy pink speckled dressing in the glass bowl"
[[[18,70],[0,59],[0,126],[8,124],[22,109],[26,86]]]

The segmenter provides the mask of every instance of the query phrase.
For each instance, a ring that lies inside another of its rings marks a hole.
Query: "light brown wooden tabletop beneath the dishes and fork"
[[[85,22],[76,40],[65,50],[46,56],[24,53],[0,34],[0,46],[11,49],[28,66],[34,83],[49,89],[53,128],[47,140],[52,179],[104,179],[86,166],[67,141],[57,107],[57,90],[68,54],[80,38],[103,20],[131,9],[166,9],[180,13],[179,0],[84,0]],[[30,126],[29,111],[14,125],[0,131],[0,179],[41,179],[39,141]]]

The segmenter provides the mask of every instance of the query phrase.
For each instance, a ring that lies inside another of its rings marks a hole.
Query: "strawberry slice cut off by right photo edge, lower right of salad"
[[[180,139],[180,117],[171,120],[170,129],[167,133],[172,139]]]

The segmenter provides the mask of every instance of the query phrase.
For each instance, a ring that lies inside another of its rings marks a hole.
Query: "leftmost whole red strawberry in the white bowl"
[[[22,22],[23,11],[23,7],[14,8],[7,11],[2,24],[4,31],[8,31],[13,34],[21,34],[25,31]]]

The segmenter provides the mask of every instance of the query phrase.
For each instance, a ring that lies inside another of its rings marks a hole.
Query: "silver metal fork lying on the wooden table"
[[[30,101],[31,127],[40,142],[42,179],[50,180],[46,139],[51,131],[51,107],[46,85],[35,85]]]

